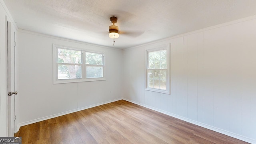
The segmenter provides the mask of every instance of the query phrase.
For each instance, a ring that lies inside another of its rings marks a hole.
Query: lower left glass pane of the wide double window
[[[58,79],[82,78],[82,66],[58,64]]]

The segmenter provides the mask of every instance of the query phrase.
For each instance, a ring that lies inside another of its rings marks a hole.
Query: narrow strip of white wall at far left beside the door
[[[16,25],[4,2],[0,0],[0,136],[8,136],[6,20],[12,22],[12,33],[16,32]]]

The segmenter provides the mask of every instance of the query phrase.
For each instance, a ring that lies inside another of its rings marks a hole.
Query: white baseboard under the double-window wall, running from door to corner
[[[117,99],[114,99],[114,100],[108,100],[106,102],[100,102],[98,104],[92,104],[90,106],[86,106],[86,107],[82,107],[82,108],[77,108],[77,109],[74,109],[74,110],[69,110],[69,111],[66,111],[66,112],[58,113],[58,114],[53,114],[51,116],[45,116],[45,117],[38,118],[38,119],[35,119],[35,120],[30,120],[30,121],[27,121],[27,122],[22,122],[22,123],[19,123],[17,125],[17,129],[16,129],[17,131],[16,132],[18,132],[20,130],[21,126],[26,126],[28,124],[33,124],[33,123],[40,122],[40,121],[43,121],[43,120],[48,120],[48,119],[51,119],[51,118],[56,118],[58,116],[63,116],[65,114],[70,114],[70,113],[73,113],[73,112],[78,112],[80,110],[85,110],[85,109],[88,109],[88,108],[93,108],[95,106],[100,106],[100,105],[103,105],[103,104],[108,104],[110,102],[116,102],[118,100],[122,100],[122,98],[117,98]]]

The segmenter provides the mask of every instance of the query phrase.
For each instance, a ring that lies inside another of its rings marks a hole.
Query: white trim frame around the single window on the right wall
[[[154,52],[158,50],[166,50],[166,60],[167,60],[167,72],[166,72],[166,90],[156,89],[156,88],[148,88],[148,52]],[[155,46],[151,48],[146,48],[146,84],[145,90],[153,91],[153,92],[160,92],[164,94],[170,94],[170,44]]]

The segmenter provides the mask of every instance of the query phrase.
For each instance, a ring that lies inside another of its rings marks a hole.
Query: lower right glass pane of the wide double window
[[[86,78],[102,78],[102,66],[86,66]]]

